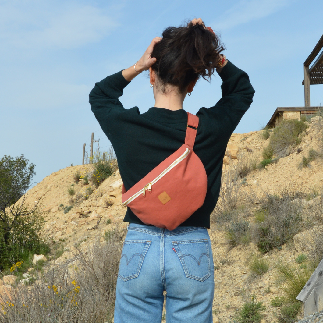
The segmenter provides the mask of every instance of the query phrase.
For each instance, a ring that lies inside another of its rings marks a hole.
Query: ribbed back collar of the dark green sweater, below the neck
[[[183,109],[169,110],[164,108],[150,108],[147,112],[142,113],[144,118],[158,120],[163,123],[182,123],[187,122],[187,112]]]

